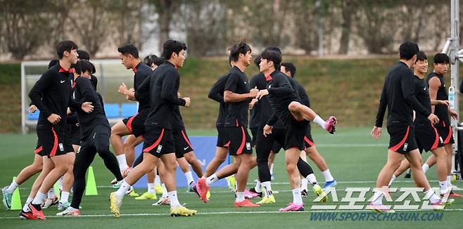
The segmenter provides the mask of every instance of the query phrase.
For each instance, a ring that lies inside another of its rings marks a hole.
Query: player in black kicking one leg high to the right
[[[259,100],[268,96],[273,114],[263,128],[265,137],[273,135],[273,125],[280,121],[284,127],[284,141],[278,140],[283,145],[286,157],[286,170],[293,188],[293,202],[279,211],[303,211],[304,204],[300,195],[300,174],[312,180],[312,168],[300,159],[300,150],[304,149],[304,136],[307,131],[307,120],[314,120],[329,133],[334,133],[336,118],[330,117],[328,122],[319,117],[313,110],[298,102],[298,93],[291,86],[291,78],[279,71],[281,53],[277,50],[266,49],[262,52],[260,60],[260,72],[267,78],[267,89],[260,90],[256,98]],[[281,138],[281,137],[279,137]],[[277,139],[279,139],[277,138]],[[316,181],[315,181],[316,183]]]

